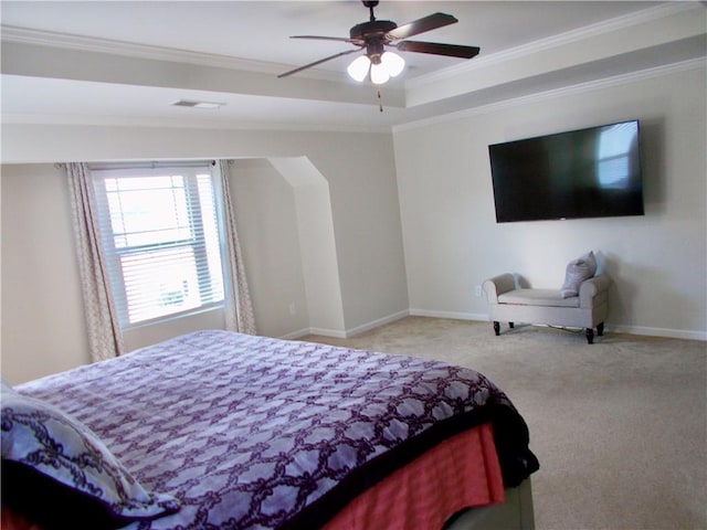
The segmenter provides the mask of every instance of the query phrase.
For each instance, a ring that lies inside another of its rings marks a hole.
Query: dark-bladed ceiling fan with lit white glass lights
[[[446,55],[460,59],[472,59],[479,52],[477,46],[403,40],[458,22],[451,14],[433,13],[407,24],[398,25],[395,22],[390,20],[376,19],[373,8],[378,6],[378,0],[362,0],[362,3],[369,9],[370,20],[368,22],[356,24],[351,28],[348,38],[317,35],[291,36],[291,39],[316,39],[324,41],[348,42],[357,46],[356,50],[348,50],[346,52],[329,55],[328,57],[320,59],[314,63],[305,64],[304,66],[279,74],[277,77],[286,77],[288,75],[296,74],[297,72],[302,72],[303,70],[331,61],[333,59],[365,50],[365,55],[357,57],[347,68],[349,75],[360,82],[368,76],[370,71],[371,82],[374,84],[382,84],[390,77],[394,77],[400,74],[405,64],[404,60],[400,55],[387,51],[386,47],[393,47],[401,52],[429,53],[432,55]]]

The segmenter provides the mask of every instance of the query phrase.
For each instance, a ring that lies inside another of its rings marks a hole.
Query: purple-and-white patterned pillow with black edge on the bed
[[[28,518],[71,528],[59,521],[91,517],[86,528],[103,529],[179,510],[173,497],[145,490],[88,427],[4,384],[1,430],[2,502]]]

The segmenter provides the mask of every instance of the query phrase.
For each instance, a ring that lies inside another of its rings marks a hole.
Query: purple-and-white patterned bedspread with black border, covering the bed
[[[130,529],[316,528],[486,421],[507,486],[537,469],[494,383],[403,356],[200,331],[17,390],[87,424],[146,488],[181,501]]]

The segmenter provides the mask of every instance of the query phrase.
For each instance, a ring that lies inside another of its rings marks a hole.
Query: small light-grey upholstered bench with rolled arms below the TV
[[[584,328],[590,344],[594,341],[594,328],[601,337],[609,312],[608,289],[611,278],[606,274],[594,276],[594,264],[584,274],[589,276],[587,279],[576,276],[574,285],[568,288],[570,276],[576,274],[577,267],[585,267],[588,261],[590,265],[593,264],[591,253],[568,265],[568,278],[561,289],[519,288],[513,274],[485,280],[483,287],[495,333],[500,335],[500,322],[504,321],[511,328],[515,322]]]

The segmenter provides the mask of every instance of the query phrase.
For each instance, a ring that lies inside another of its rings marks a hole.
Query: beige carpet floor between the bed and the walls
[[[441,359],[506,391],[530,427],[536,527],[707,529],[707,343],[408,317],[347,340]]]

